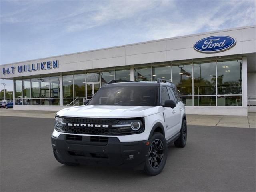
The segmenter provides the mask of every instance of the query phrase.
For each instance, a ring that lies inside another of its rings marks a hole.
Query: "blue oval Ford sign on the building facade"
[[[203,53],[216,53],[228,50],[236,44],[231,36],[216,35],[203,38],[194,44],[194,49]]]

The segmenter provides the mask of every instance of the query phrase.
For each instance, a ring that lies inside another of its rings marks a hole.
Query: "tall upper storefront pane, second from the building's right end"
[[[194,95],[216,94],[216,62],[194,64]]]

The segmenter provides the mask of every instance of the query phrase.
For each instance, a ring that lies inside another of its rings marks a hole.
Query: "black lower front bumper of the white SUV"
[[[52,136],[52,147],[64,162],[141,169],[148,155],[147,141],[120,142],[117,137],[72,138],[70,135],[60,134],[58,138]]]

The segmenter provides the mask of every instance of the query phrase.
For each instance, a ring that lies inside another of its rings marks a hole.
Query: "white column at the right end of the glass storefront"
[[[247,107],[247,57],[242,59],[242,106]]]

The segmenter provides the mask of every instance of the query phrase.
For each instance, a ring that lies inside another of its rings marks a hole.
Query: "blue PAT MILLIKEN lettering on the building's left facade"
[[[5,74],[14,74],[15,71],[18,71],[19,73],[23,72],[33,72],[33,71],[39,71],[39,70],[49,70],[49,69],[55,69],[59,68],[59,61],[46,61],[46,62],[40,62],[40,63],[33,63],[33,64],[26,64],[26,65],[19,65],[16,67],[7,67],[2,68],[2,73]]]

